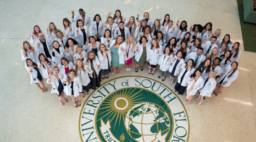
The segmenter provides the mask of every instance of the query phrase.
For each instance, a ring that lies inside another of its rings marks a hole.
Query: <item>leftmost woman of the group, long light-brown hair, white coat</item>
[[[39,62],[36,50],[27,41],[24,41],[23,48],[21,49],[21,60],[26,61],[28,58],[37,64]],[[26,62],[25,67],[27,67]]]

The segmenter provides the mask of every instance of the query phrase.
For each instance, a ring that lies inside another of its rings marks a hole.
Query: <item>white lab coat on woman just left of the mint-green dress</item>
[[[100,53],[100,51],[98,51],[98,59],[100,61],[100,69],[101,70],[106,70],[108,69],[108,64],[110,64],[111,66],[111,60],[112,60],[112,56],[111,56],[111,50],[109,48],[107,48],[108,51],[107,51],[107,55],[108,55],[108,59],[106,58],[104,61],[103,61],[103,58],[104,58],[104,55],[106,55],[105,53],[103,53],[103,55]]]

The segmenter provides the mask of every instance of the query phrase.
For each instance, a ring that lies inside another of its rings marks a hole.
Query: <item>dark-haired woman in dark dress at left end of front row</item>
[[[44,86],[43,77],[40,69],[38,68],[37,64],[33,62],[31,59],[26,59],[27,64],[27,71],[30,73],[31,77],[31,84],[36,83],[36,86],[44,93],[47,92],[46,87]],[[39,83],[42,84],[43,88],[39,85]]]

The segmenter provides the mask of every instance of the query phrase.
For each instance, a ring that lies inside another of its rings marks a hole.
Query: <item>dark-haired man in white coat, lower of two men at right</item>
[[[195,68],[198,68],[198,66],[201,64],[201,62],[203,62],[206,58],[204,55],[202,55],[203,53],[203,48],[200,47],[197,49],[197,52],[191,52],[190,54],[188,54],[185,58],[185,62],[187,62],[189,59],[193,59],[194,60],[194,64],[195,64]]]

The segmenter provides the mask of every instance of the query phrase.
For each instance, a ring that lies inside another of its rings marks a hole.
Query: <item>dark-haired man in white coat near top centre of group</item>
[[[119,27],[117,27],[114,31],[114,39],[117,38],[118,35],[122,35],[124,40],[127,40],[130,36],[130,31],[129,28],[124,27],[124,22],[120,21],[119,22]]]

